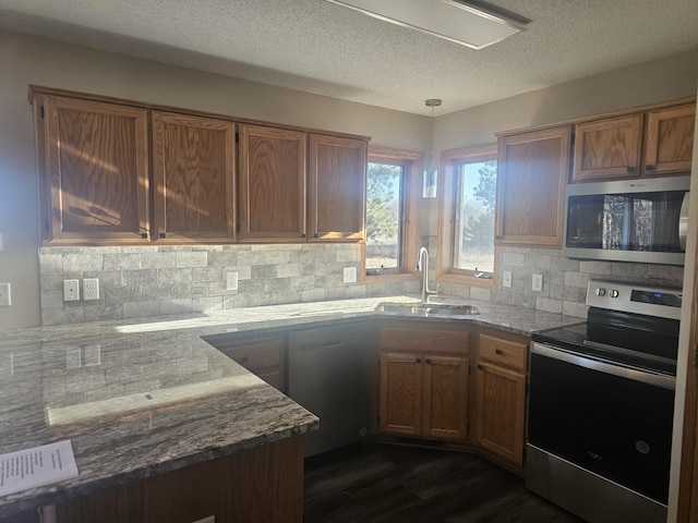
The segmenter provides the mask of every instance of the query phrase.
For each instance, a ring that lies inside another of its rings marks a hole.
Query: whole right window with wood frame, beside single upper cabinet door
[[[496,144],[442,153],[436,277],[494,287]]]

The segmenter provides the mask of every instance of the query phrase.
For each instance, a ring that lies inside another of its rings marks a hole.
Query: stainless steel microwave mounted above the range
[[[690,177],[567,185],[563,254],[684,265]]]

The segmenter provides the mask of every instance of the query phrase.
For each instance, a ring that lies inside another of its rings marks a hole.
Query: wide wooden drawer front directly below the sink
[[[467,354],[468,331],[437,330],[433,325],[424,328],[386,326],[381,329],[381,349],[419,352],[453,352]]]

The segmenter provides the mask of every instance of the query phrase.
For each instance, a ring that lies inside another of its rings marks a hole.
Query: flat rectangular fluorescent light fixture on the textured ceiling
[[[370,16],[482,49],[526,28],[530,20],[481,0],[327,0]]]

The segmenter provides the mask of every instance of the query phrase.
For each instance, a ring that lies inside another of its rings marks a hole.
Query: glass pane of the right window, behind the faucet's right
[[[474,272],[493,272],[497,162],[462,163],[458,168],[454,267]]]

